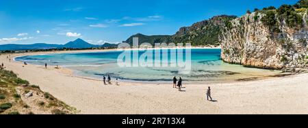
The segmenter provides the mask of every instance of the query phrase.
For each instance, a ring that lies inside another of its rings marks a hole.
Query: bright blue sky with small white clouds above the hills
[[[172,35],[212,16],[297,0],[7,0],[0,1],[0,44],[122,42],[136,33]]]

